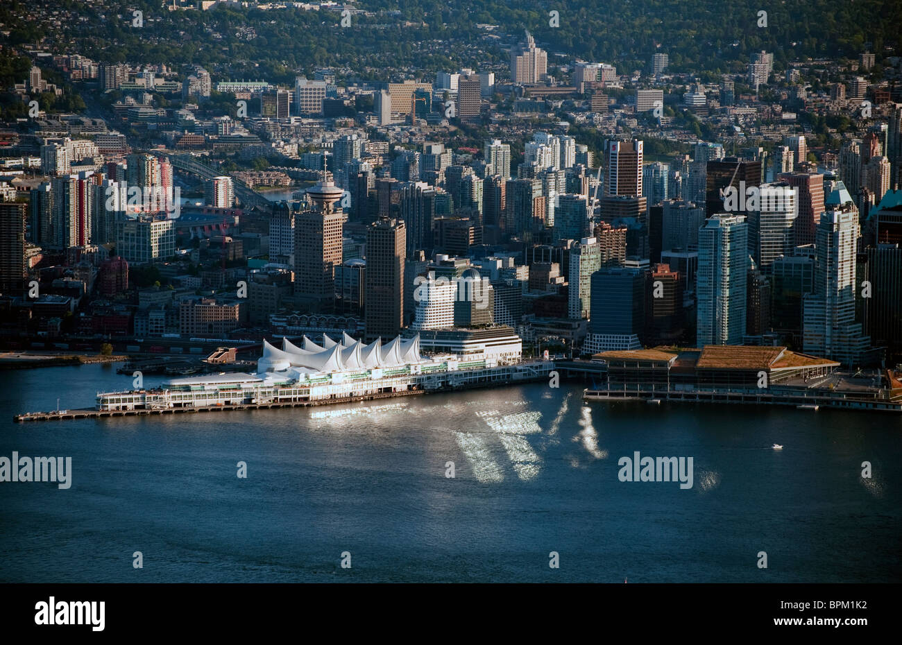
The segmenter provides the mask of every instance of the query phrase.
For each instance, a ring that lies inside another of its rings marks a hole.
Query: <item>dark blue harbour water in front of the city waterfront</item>
[[[0,456],[72,458],[68,490],[0,483],[0,581],[902,581],[897,415],[585,405],[583,384],[532,383],[12,420],[130,387],[115,365],[0,373]],[[693,487],[621,482],[618,459],[637,451],[692,456]]]

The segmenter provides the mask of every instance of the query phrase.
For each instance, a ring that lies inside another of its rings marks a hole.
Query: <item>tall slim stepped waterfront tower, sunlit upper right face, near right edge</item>
[[[803,303],[803,351],[857,364],[870,346],[855,322],[855,255],[859,236],[854,211],[821,215],[815,244],[813,292]]]

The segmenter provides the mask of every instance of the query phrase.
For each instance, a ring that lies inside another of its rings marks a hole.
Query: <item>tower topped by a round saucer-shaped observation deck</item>
[[[335,267],[342,263],[342,190],[331,181],[307,189],[308,210],[294,217],[294,293],[314,311],[331,309]],[[303,253],[300,253],[303,249]]]

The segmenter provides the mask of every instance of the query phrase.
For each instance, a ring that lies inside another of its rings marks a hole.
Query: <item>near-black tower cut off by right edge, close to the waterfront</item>
[[[874,346],[888,350],[890,364],[902,362],[902,245],[878,244],[867,251],[864,280],[870,298],[863,299],[867,333]]]

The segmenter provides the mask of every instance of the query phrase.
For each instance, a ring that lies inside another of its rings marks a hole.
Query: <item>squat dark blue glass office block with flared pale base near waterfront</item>
[[[601,269],[591,276],[590,291],[592,309],[584,351],[641,349],[640,336],[645,332],[642,272],[632,267]]]

